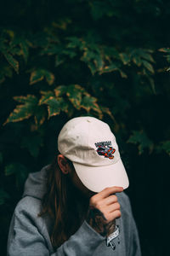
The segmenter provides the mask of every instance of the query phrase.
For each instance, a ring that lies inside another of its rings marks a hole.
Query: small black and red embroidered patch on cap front
[[[116,149],[111,147],[111,141],[95,143],[95,146],[97,147],[96,151],[99,155],[104,155],[105,158],[109,159],[114,158],[113,154]]]

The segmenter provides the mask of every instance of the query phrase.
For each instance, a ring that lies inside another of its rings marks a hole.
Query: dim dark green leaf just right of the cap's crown
[[[133,135],[129,137],[127,143],[138,144],[139,154],[144,152],[144,148],[149,148],[151,153],[154,146],[144,131],[133,131]]]

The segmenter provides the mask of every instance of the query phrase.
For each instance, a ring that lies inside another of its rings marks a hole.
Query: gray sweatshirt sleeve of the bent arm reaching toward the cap
[[[15,210],[8,232],[7,256],[91,256],[99,243],[105,240],[84,220],[68,241],[56,252],[49,253],[42,230],[42,224],[31,218],[29,212]]]

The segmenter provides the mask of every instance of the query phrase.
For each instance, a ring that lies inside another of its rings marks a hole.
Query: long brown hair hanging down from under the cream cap
[[[79,208],[80,193],[71,183],[70,176],[63,174],[58,165],[59,151],[54,155],[54,160],[47,169],[47,191],[42,198],[42,211],[37,216],[49,214],[54,219],[54,229],[50,239],[54,249],[76,232],[82,224],[83,213],[86,212],[86,202]],[[67,158],[66,158],[67,159]],[[74,170],[71,160],[68,160]],[[84,208],[83,208],[84,207]]]

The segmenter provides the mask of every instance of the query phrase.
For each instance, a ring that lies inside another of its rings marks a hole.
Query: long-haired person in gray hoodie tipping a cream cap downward
[[[123,192],[127,173],[109,125],[93,117],[71,119],[59,132],[58,148],[53,163],[26,180],[7,254],[140,256]]]

